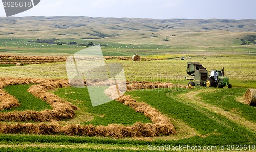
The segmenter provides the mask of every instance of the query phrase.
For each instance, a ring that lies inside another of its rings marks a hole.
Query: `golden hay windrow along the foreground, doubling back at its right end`
[[[122,96],[118,102],[124,105],[131,106],[137,112],[144,113],[149,117],[152,123],[136,122],[131,126],[124,126],[122,124],[109,124],[108,126],[95,125],[60,125],[57,122],[52,123],[15,123],[15,124],[0,124],[0,133],[26,133],[26,134],[66,134],[66,135],[80,135],[80,136],[105,136],[113,138],[123,137],[157,137],[161,135],[176,134],[173,124],[169,119],[162,115],[159,111],[150,107],[146,103],[139,103],[130,96]]]

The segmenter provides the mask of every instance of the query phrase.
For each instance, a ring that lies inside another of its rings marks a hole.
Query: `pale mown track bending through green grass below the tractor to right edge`
[[[185,94],[180,94],[178,97],[183,99],[185,102],[187,103],[193,103],[197,106],[206,108],[207,110],[210,110],[218,115],[224,116],[227,119],[242,125],[243,127],[249,129],[250,131],[253,131],[256,133],[256,123],[248,121],[247,119],[240,117],[237,114],[231,113],[231,112],[227,112],[225,110],[223,110],[222,108],[216,107],[215,105],[209,104],[209,103],[204,103],[202,102],[202,99],[200,97],[197,97],[198,94],[200,93],[209,93],[209,92],[213,92],[216,89],[208,89],[206,90],[200,90],[200,91],[192,91],[189,93],[185,93]],[[182,102],[182,100],[180,100]],[[183,102],[183,103],[185,103]]]

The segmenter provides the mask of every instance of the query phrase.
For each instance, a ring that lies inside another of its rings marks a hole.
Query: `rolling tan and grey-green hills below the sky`
[[[182,46],[253,44],[256,20],[8,17],[0,18],[0,36]]]

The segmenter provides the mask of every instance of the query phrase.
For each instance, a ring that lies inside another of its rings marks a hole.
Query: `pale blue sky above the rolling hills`
[[[41,0],[15,16],[256,19],[255,8],[256,0]]]

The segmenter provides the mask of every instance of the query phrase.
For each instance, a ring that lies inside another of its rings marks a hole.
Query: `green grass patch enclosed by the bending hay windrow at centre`
[[[55,91],[54,94],[78,106],[79,110],[77,113],[81,114],[81,116],[78,115],[78,118],[75,119],[84,117],[84,121],[79,122],[84,125],[94,124],[107,126],[112,123],[132,125],[138,121],[151,123],[143,114],[136,113],[129,106],[123,106],[116,101],[92,107],[86,88],[60,88]],[[86,114],[89,114],[89,116]],[[86,118],[88,118],[88,120]]]

